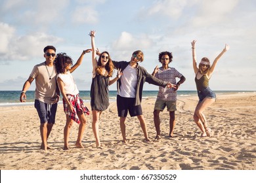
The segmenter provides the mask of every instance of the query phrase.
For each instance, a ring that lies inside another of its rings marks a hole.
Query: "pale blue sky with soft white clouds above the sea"
[[[45,61],[43,48],[56,47],[77,61],[91,48],[89,32],[96,31],[100,52],[115,61],[129,61],[135,50],[148,73],[161,63],[158,54],[173,53],[175,67],[186,81],[179,90],[196,90],[191,41],[198,62],[212,61],[223,50],[211,76],[212,90],[256,91],[255,0],[0,0],[0,90],[22,90],[33,66]],[[74,73],[79,90],[90,90],[91,53]],[[179,78],[177,78],[177,81]],[[116,84],[109,88],[116,90]],[[30,90],[35,90],[33,82]],[[144,90],[158,86],[144,84]]]

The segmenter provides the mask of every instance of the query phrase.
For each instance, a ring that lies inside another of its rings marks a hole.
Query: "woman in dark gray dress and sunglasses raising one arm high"
[[[108,86],[116,82],[121,77],[121,72],[117,72],[117,76],[110,80],[114,73],[114,65],[110,54],[102,52],[98,61],[96,59],[95,31],[90,32],[91,45],[93,48],[93,81],[91,84],[91,110],[93,112],[93,133],[96,139],[96,147],[100,147],[100,138],[98,134],[98,124],[100,114],[110,105],[108,99]]]

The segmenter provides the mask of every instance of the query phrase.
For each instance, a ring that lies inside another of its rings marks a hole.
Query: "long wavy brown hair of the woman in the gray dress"
[[[95,71],[98,75],[103,75],[103,68],[102,68],[102,63],[101,63],[102,54],[108,54],[108,63],[106,63],[105,69],[108,72],[108,76],[112,77],[113,72],[114,72],[114,64],[112,62],[112,59],[110,58],[110,54],[106,51],[102,52],[100,54],[100,57],[98,58],[98,61],[97,61],[97,67],[96,67]]]

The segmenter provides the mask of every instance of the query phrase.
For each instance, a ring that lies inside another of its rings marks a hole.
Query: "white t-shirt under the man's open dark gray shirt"
[[[120,91],[117,94],[121,97],[135,98],[137,80],[137,69],[128,65],[123,70]]]

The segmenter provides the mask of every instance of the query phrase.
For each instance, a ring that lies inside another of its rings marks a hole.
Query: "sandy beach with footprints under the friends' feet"
[[[142,109],[148,135],[153,140],[155,99],[144,99]],[[255,170],[256,169],[256,93],[217,95],[205,115],[213,129],[212,137],[200,137],[193,121],[198,97],[178,97],[175,137],[168,138],[169,113],[161,112],[161,141],[144,142],[137,118],[127,118],[127,139],[121,142],[116,103],[102,112],[101,148],[95,148],[87,116],[84,149],[75,148],[78,125],[74,123],[71,150],[64,151],[63,129],[66,117],[58,105],[56,124],[49,137],[53,150],[40,150],[39,118],[33,106],[1,107],[1,170]],[[90,107],[89,103],[86,104]]]

